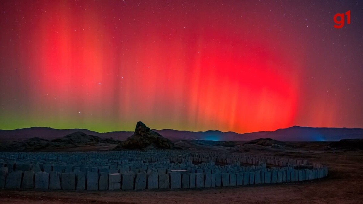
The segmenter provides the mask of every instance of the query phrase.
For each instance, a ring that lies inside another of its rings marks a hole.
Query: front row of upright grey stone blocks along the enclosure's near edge
[[[237,173],[180,173],[172,171],[158,174],[156,171],[123,172],[37,172],[0,171],[0,188],[35,188],[64,190],[131,190],[131,189],[175,189],[209,188],[251,184],[286,183],[323,178],[327,167],[313,170],[273,170]]]

